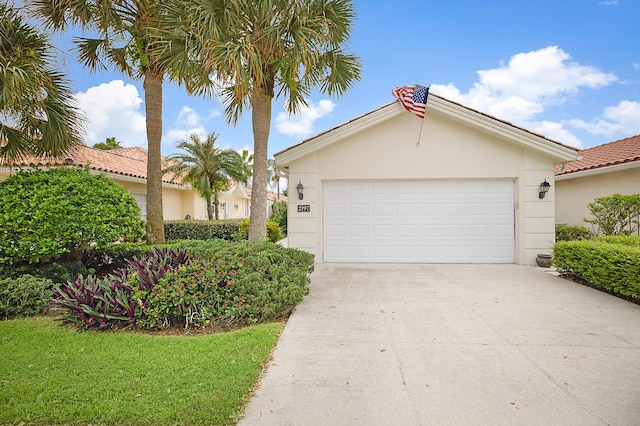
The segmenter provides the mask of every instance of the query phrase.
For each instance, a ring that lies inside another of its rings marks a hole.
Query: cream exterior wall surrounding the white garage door
[[[534,264],[554,241],[553,189],[544,200],[538,187],[553,182],[554,161],[506,138],[479,131],[437,111],[421,120],[399,114],[292,161],[289,182],[289,246],[322,262],[322,183],[325,180],[511,179],[515,182],[516,263]],[[276,159],[277,161],[277,159]],[[304,200],[294,188],[302,182]],[[299,213],[297,206],[311,211]]]

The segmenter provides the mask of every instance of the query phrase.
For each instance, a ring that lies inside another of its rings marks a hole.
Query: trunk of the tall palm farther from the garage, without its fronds
[[[144,74],[144,101],[147,124],[147,244],[162,244],[162,74]]]

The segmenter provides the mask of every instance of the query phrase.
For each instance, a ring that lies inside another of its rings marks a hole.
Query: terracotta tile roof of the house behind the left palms
[[[163,162],[167,161],[163,157]],[[66,159],[27,157],[16,166],[88,166],[91,170],[147,179],[147,150],[140,147],[118,148],[110,151],[82,145]],[[171,183],[172,175],[166,174],[162,181]]]

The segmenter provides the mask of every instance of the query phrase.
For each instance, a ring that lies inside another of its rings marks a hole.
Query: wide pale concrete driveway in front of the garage
[[[239,425],[640,425],[640,306],[517,265],[317,265]]]

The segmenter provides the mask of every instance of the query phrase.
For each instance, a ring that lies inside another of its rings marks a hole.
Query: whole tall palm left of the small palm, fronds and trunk
[[[142,79],[147,127],[147,242],[164,242],[162,212],[162,82],[169,59],[152,50],[163,16],[156,0],[33,0],[35,12],[58,30],[79,25],[97,38],[75,39],[80,62],[92,71],[104,62]],[[170,52],[169,52],[170,53]],[[174,53],[178,55],[178,53]],[[104,61],[104,62],[103,62]],[[191,67],[182,71],[188,73]]]

